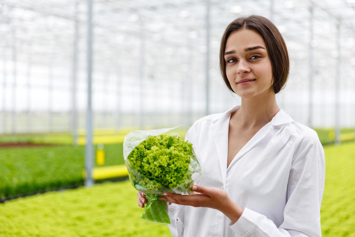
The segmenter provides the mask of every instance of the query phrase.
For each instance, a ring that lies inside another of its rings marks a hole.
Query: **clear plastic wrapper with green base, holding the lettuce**
[[[135,130],[125,136],[123,153],[133,187],[146,194],[141,219],[160,225],[170,223],[164,192],[188,195],[202,177],[202,168],[190,141],[180,134],[186,125],[174,128]]]

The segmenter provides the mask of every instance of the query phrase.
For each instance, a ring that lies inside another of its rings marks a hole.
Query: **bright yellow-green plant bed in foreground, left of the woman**
[[[0,204],[0,236],[171,236],[167,226],[140,219],[129,181],[48,192]]]

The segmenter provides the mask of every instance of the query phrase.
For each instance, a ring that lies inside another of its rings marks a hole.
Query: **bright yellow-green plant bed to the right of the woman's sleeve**
[[[322,236],[355,237],[355,142],[324,147],[326,181],[321,206]]]

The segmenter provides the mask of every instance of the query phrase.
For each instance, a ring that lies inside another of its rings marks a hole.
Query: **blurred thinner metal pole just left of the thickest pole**
[[[72,85],[71,85],[71,133],[73,136],[73,146],[78,145],[77,132],[77,108],[76,108],[76,85],[77,85],[77,71],[78,71],[78,38],[79,38],[79,24],[78,24],[78,2],[75,2],[75,20],[74,20],[74,44],[73,44],[73,68],[72,68]]]

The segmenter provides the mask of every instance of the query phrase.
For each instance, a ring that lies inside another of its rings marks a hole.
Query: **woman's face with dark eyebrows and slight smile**
[[[260,48],[252,49],[254,47]],[[226,41],[224,60],[228,81],[238,96],[251,98],[268,93],[273,79],[272,65],[266,43],[257,31],[242,29],[231,33]],[[253,81],[238,83],[242,79]],[[273,88],[271,91],[274,92]]]

